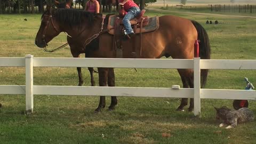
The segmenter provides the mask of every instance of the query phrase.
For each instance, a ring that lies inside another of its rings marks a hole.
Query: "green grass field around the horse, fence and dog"
[[[210,37],[212,59],[255,59],[256,19],[147,11],[147,15],[174,14],[200,22]],[[41,15],[0,15],[0,57],[71,57],[69,47],[45,53],[34,44]],[[23,21],[23,19],[28,21]],[[206,20],[229,22],[206,25]],[[61,34],[49,43],[66,43]],[[25,84],[24,68],[0,67],[0,84]],[[181,85],[177,70],[115,69],[116,86],[170,87]],[[84,85],[90,85],[83,69]],[[98,76],[94,75],[96,79]],[[256,83],[253,70],[211,70],[206,87],[244,89],[244,77]],[[75,68],[35,68],[34,85],[77,85]],[[202,100],[202,118],[175,111],[179,99],[118,98],[115,111],[99,114],[98,97],[35,95],[34,114],[25,115],[25,95],[0,95],[0,143],[255,143],[256,123],[236,129],[219,128],[213,106],[232,107],[232,100]],[[110,98],[107,98],[107,105]],[[256,102],[250,101],[256,114]]]

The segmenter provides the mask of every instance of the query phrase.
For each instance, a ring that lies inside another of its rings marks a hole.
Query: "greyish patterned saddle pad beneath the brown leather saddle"
[[[114,35],[114,26],[117,15],[110,15],[108,20],[108,33]],[[140,25],[140,24],[139,24]],[[157,30],[159,27],[159,17],[151,17],[149,18],[149,23],[147,26],[142,27],[141,33],[146,33],[150,31]],[[138,27],[135,31],[135,34],[140,33],[140,27]]]

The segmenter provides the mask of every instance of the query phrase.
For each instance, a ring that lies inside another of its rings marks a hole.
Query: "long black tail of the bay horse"
[[[211,47],[209,42],[209,37],[206,33],[206,30],[196,21],[191,20],[193,25],[197,30],[197,39],[199,42],[199,57],[201,59],[211,59]],[[203,88],[207,81],[208,69],[201,70],[201,87]]]

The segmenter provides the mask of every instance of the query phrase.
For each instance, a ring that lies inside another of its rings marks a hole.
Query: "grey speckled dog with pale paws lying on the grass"
[[[215,107],[214,107],[215,108]],[[224,121],[219,126],[228,125],[226,129],[236,127],[238,123],[253,121],[253,112],[248,108],[240,108],[238,110],[229,109],[227,107],[215,108],[216,118]]]

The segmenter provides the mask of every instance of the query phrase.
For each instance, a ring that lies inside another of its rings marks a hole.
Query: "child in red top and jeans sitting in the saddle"
[[[133,0],[119,0],[119,5],[124,7],[127,14],[124,15],[123,23],[125,28],[125,36],[131,38],[134,35],[134,31],[131,26],[130,20],[137,17],[140,14],[140,8]]]

